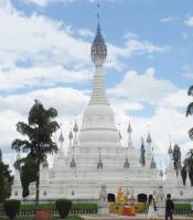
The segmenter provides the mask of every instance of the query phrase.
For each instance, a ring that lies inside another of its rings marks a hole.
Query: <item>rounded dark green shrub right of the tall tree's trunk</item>
[[[55,207],[61,216],[61,218],[66,218],[71,211],[72,200],[69,199],[57,199],[55,201]]]

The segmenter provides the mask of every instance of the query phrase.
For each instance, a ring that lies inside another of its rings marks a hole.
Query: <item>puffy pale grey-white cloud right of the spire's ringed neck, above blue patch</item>
[[[178,88],[169,80],[157,79],[154,68],[150,67],[144,74],[129,70],[122,81],[110,92],[120,97],[129,97],[136,101],[147,101],[156,105],[169,94],[178,91]]]

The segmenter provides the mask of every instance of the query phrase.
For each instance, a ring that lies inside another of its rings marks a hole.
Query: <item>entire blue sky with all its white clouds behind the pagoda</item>
[[[0,0],[0,147],[7,161],[35,98],[58,109],[66,135],[74,114],[79,125],[89,100],[94,65],[90,44],[97,25],[94,0]],[[193,79],[191,0],[103,0],[100,25],[108,46],[107,95],[133,142],[151,131],[157,161],[165,161],[169,135],[183,156],[192,147],[185,108]],[[150,124],[150,128],[148,127]]]

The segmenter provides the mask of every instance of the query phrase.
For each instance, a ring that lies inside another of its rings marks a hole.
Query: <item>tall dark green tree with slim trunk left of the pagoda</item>
[[[40,165],[46,160],[47,154],[53,154],[58,151],[57,145],[52,140],[52,134],[60,128],[58,123],[53,119],[57,117],[57,111],[54,108],[44,109],[43,105],[35,100],[28,117],[28,123],[18,122],[17,131],[26,139],[15,139],[12,142],[12,148],[17,152],[22,151],[26,156],[19,160],[15,164],[25,164],[32,161],[36,164],[36,194],[35,194],[35,210],[39,209],[40,195]]]

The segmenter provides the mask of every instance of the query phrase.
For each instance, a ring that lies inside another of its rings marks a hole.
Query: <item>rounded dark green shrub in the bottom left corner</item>
[[[20,211],[20,200],[11,199],[4,201],[3,209],[10,219],[14,219],[17,213]]]

